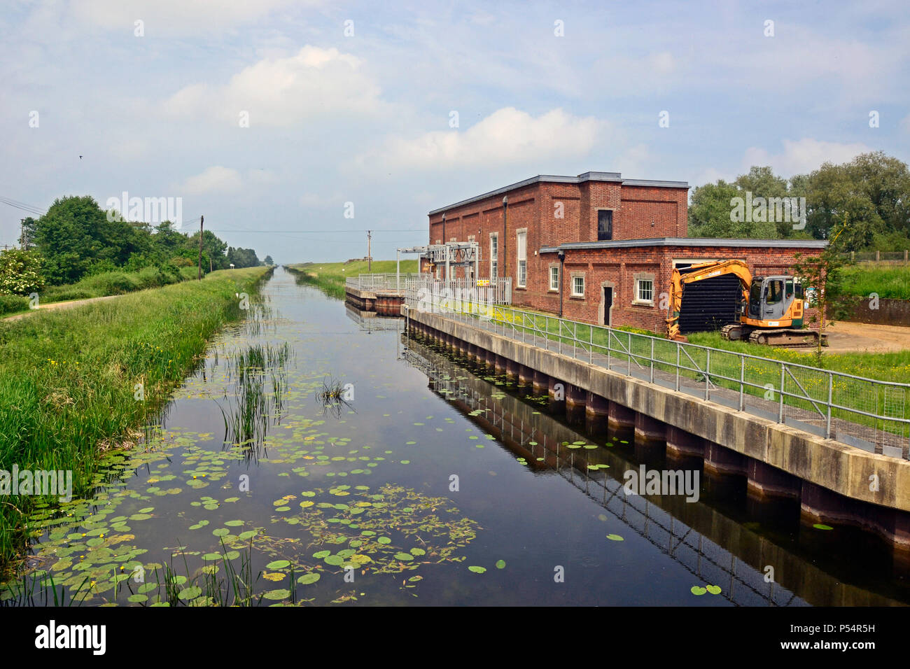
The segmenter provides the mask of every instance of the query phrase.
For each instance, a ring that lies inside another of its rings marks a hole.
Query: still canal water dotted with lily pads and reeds
[[[910,602],[890,552],[701,478],[277,269],[91,499],[30,522],[6,604]],[[697,463],[696,463],[697,468]],[[770,568],[770,570],[769,570]]]

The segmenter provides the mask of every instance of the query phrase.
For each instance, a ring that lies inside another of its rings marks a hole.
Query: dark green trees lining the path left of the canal
[[[162,271],[195,266],[199,253],[199,232],[191,234],[174,228],[170,221],[152,227],[148,223],[108,217],[90,196],[58,198],[40,218],[25,218],[22,249],[10,249],[11,255],[0,267],[8,265],[22,271],[28,268],[38,274],[30,285],[76,283],[87,276],[107,271],[137,271],[157,267]],[[267,257],[270,264],[271,258]],[[228,269],[261,264],[252,248],[228,247],[210,230],[202,235],[202,268]],[[12,271],[12,270],[11,270]],[[8,272],[7,272],[8,273]],[[0,278],[0,292],[14,292],[13,279],[5,285]],[[22,294],[19,281],[15,290]]]

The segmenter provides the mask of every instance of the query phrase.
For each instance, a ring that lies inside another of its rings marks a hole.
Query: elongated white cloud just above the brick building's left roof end
[[[535,118],[507,106],[467,130],[390,138],[379,151],[361,155],[358,163],[447,169],[583,157],[591,153],[605,127],[594,117],[573,117],[562,109]]]

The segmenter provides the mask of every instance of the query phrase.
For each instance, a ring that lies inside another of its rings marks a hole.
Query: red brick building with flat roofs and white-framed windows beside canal
[[[673,267],[740,258],[753,275],[785,274],[794,254],[824,248],[820,240],[688,238],[688,194],[683,181],[618,172],[531,177],[430,211],[430,244],[477,241],[473,278],[511,277],[516,306],[652,331],[664,329]],[[472,278],[473,268],[455,271]]]

